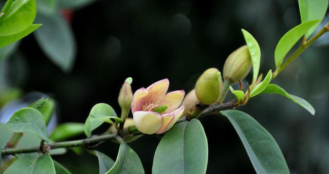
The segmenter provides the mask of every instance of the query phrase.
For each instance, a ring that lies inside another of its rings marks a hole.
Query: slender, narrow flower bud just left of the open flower
[[[125,118],[128,116],[132,101],[133,101],[133,92],[132,92],[132,83],[133,79],[131,77],[127,78],[124,83],[122,84],[118,102],[121,107],[121,119],[125,120]]]

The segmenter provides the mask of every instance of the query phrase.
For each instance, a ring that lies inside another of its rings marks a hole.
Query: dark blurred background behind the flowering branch
[[[258,40],[260,72],[266,73],[275,69],[279,39],[300,23],[297,0],[37,2],[35,23],[43,26],[0,50],[2,117],[13,103],[30,100],[31,92],[57,101],[58,123],[84,122],[100,102],[120,114],[117,97],[127,77],[134,79],[133,91],[168,78],[171,91],[189,92],[203,71],[222,70],[226,57],[245,45],[242,28]],[[329,173],[328,53],[325,34],[273,81],[311,103],[315,116],[276,95],[239,107],[275,137],[291,173]],[[226,118],[200,121],[209,143],[207,173],[255,173]],[[104,130],[106,125],[95,134]],[[143,136],[130,143],[146,173],[158,142],[156,136]],[[118,148],[113,142],[97,147],[114,160]],[[98,173],[97,158],[87,153],[68,150],[53,158],[73,173]]]

